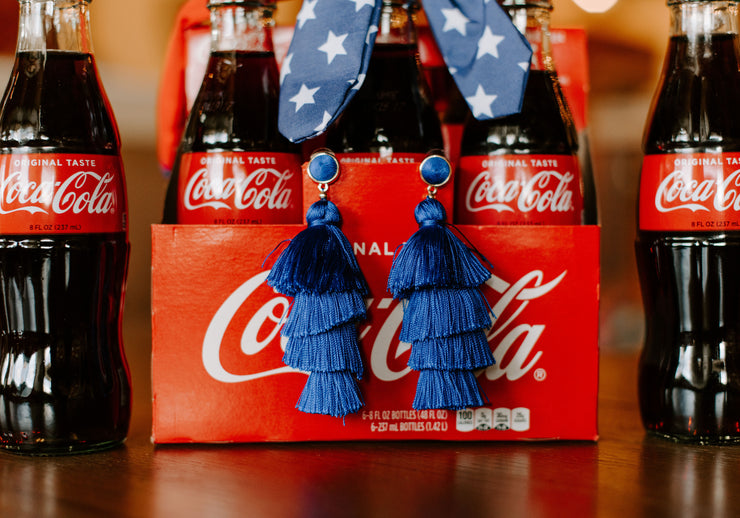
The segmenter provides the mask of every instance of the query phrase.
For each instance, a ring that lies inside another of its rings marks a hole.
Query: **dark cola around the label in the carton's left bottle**
[[[272,52],[212,52],[185,127],[165,199],[164,223],[177,223],[180,157],[207,151],[300,153],[278,131],[279,76]]]

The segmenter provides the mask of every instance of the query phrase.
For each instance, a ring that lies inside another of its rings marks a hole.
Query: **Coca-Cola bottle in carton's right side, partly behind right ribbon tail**
[[[521,112],[468,117],[455,183],[455,221],[466,224],[596,223],[584,192],[578,136],[550,45],[550,0],[499,0],[532,46]],[[591,183],[590,185],[593,185]]]

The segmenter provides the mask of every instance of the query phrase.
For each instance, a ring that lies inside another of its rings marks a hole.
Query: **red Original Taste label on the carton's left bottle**
[[[292,153],[186,153],[177,221],[185,224],[300,223],[301,160]]]

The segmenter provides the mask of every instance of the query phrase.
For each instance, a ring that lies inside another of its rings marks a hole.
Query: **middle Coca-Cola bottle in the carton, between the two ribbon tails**
[[[443,147],[419,62],[415,9],[414,2],[383,2],[365,80],[326,132],[340,162],[417,162]]]

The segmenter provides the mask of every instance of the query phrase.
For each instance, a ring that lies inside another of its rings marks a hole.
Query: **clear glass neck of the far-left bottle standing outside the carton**
[[[92,53],[87,0],[21,0],[18,52]]]

